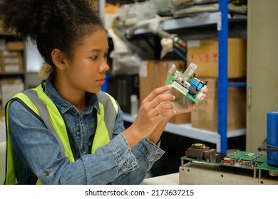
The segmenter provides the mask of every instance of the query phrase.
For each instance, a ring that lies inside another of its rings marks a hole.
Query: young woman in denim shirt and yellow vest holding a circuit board
[[[164,154],[160,135],[169,119],[197,104],[175,97],[170,86],[159,87],[124,129],[118,103],[101,92],[109,68],[108,40],[88,1],[6,0],[0,13],[5,28],[35,41],[52,68],[38,87],[6,104],[5,183],[143,181]]]

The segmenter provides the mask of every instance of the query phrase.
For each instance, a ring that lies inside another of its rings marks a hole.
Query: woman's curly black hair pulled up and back
[[[104,29],[103,21],[87,0],[4,0],[0,5],[4,30],[16,31],[36,43],[51,65],[51,51],[61,50],[71,60],[85,36]]]

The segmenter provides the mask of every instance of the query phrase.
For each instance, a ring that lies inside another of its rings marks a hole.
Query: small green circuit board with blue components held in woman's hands
[[[172,85],[176,90],[191,99],[195,103],[199,103],[204,90],[207,88],[207,82],[201,82],[195,77],[192,77],[197,65],[190,63],[185,72],[175,70],[172,75],[166,80],[168,85]]]

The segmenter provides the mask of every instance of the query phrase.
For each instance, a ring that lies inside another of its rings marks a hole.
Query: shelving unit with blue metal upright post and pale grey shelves
[[[160,24],[164,31],[173,31],[182,28],[194,28],[199,26],[217,25],[218,36],[218,131],[207,131],[203,129],[192,128],[191,124],[172,124],[168,123],[165,131],[180,136],[187,136],[193,139],[208,141],[216,144],[218,152],[227,152],[227,139],[236,136],[244,136],[246,129],[236,129],[227,131],[227,89],[228,87],[242,87],[245,82],[229,83],[227,77],[227,40],[228,23],[246,21],[247,16],[228,14],[228,2],[219,1],[219,11],[214,13],[205,13],[196,17],[173,18]],[[135,34],[140,35],[148,33],[148,30],[139,28]],[[135,117],[130,114],[124,114],[125,122],[133,122]]]

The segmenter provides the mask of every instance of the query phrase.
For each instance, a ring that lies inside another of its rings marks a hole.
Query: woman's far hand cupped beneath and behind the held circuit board
[[[170,77],[170,75],[175,71],[175,69],[176,69],[176,66],[172,65],[170,70],[168,70],[168,72],[167,72],[167,77]],[[192,112],[193,109],[200,106],[200,104],[202,104],[202,102],[204,102],[205,97],[207,96],[207,89],[205,89],[205,91],[203,92],[203,95],[200,99],[199,104],[196,104],[191,99],[189,99],[188,97],[185,97],[185,95],[183,95],[179,91],[175,90],[175,88],[173,88],[169,92],[172,95],[175,95],[175,101],[173,101],[172,104],[173,104],[173,109],[175,110],[176,114]]]

